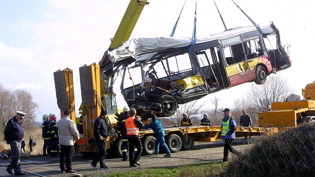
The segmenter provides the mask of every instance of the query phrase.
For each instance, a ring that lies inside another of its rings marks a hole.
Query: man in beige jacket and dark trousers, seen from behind
[[[58,121],[59,128],[59,144],[60,144],[60,169],[62,173],[76,172],[72,169],[71,162],[74,152],[74,139],[79,139],[79,132],[75,127],[75,123],[70,119],[71,112],[63,111],[63,117]]]

